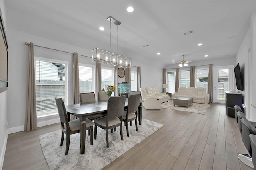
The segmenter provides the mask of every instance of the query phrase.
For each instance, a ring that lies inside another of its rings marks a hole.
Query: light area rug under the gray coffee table
[[[173,100],[162,103],[162,108],[165,108],[165,109],[186,111],[186,112],[198,113],[202,115],[206,113],[209,107],[210,107],[210,104],[201,104],[201,103],[193,103],[192,105],[188,106],[188,108],[184,106],[178,106],[178,105],[175,105],[175,107],[173,107]]]

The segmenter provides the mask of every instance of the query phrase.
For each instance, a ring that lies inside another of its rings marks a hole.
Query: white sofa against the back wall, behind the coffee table
[[[180,87],[178,92],[173,94],[173,98],[177,97],[190,97],[193,98],[193,103],[209,103],[209,94],[206,94],[206,88],[203,87]]]

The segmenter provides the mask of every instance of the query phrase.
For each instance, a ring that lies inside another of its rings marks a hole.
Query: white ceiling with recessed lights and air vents
[[[255,0],[6,0],[5,4],[7,28],[90,50],[111,47],[135,61],[158,59],[163,67],[181,61],[182,54],[186,61],[235,56],[256,10]],[[134,12],[127,12],[128,6]],[[118,31],[111,25],[111,36],[109,16],[122,23]],[[184,35],[191,30],[194,33]]]

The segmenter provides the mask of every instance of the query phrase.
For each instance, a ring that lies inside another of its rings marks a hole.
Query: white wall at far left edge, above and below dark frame
[[[0,0],[0,8],[1,15],[4,22],[4,26],[6,23],[6,15],[5,15],[5,4],[3,0]],[[5,28],[6,29],[6,28]],[[5,30],[7,31],[7,30]],[[7,94],[8,90],[0,93],[0,169],[2,169],[4,162],[4,153],[7,142]]]

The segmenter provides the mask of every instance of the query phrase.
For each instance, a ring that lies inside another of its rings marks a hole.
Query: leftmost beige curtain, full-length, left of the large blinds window
[[[35,79],[35,61],[34,45],[29,43],[28,55],[28,80],[27,80],[27,97],[26,97],[26,118],[24,131],[33,131],[37,129],[36,115],[36,79]]]

